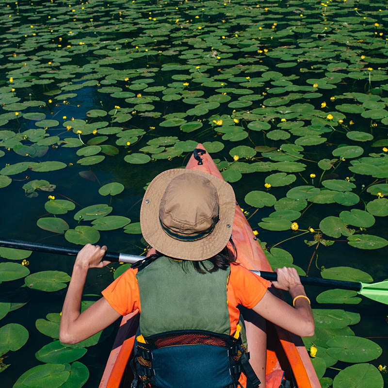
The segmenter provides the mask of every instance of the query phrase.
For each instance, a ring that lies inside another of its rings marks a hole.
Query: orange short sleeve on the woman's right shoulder
[[[271,282],[247,270],[242,265],[230,266],[229,287],[232,286],[237,303],[247,308],[255,307]]]

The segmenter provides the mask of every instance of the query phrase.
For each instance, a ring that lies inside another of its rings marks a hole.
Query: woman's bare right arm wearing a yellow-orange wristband
[[[292,299],[298,295],[306,296],[305,289],[294,268],[277,268],[275,272],[277,281],[273,282],[273,285],[276,288],[289,291]],[[311,337],[314,335],[314,317],[306,298],[298,298],[295,301],[295,307],[292,307],[267,291],[253,310],[266,320],[298,336]]]

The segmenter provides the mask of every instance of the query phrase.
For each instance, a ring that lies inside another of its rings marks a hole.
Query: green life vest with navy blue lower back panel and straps
[[[213,267],[210,261],[202,263]],[[254,387],[259,385],[248,362],[243,325],[235,337],[229,335],[229,275],[230,267],[200,274],[191,262],[166,257],[140,265],[140,335],[132,387],[231,388],[242,371]]]

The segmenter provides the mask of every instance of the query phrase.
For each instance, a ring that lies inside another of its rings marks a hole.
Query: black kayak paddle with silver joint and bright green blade
[[[56,253],[60,255],[77,256],[79,249],[68,248],[60,245],[42,244],[39,242],[29,242],[22,240],[7,240],[0,239],[0,246],[16,249],[24,249],[36,252]],[[128,255],[126,253],[106,252],[104,259],[110,261],[120,261],[124,263],[136,263],[139,260],[145,259],[141,256]],[[267,280],[276,280],[275,272],[252,271],[253,273]],[[321,286],[329,288],[339,288],[343,290],[354,290],[360,295],[373,299],[377,302],[388,304],[388,280],[379,283],[362,283],[362,282],[347,282],[343,280],[322,279],[318,277],[300,276],[301,282],[304,285]]]

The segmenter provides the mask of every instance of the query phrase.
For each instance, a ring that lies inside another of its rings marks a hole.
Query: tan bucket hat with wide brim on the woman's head
[[[146,190],[140,226],[146,242],[167,257],[209,259],[229,241],[235,206],[224,180],[197,170],[167,170]]]

